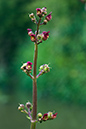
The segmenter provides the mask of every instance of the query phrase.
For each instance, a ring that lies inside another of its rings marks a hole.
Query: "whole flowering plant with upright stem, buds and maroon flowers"
[[[46,7],[37,8],[36,9],[36,15],[39,17],[39,20],[36,20],[36,17],[33,13],[29,15],[32,22],[34,22],[37,26],[37,29],[35,31],[35,34],[33,33],[32,29],[28,28],[28,35],[30,36],[30,39],[32,42],[34,42],[34,59],[33,59],[33,75],[31,75],[32,70],[32,62],[28,61],[26,63],[23,63],[21,66],[21,70],[29,76],[33,81],[33,93],[32,93],[32,103],[29,101],[26,103],[26,106],[24,104],[20,104],[18,107],[18,110],[26,114],[27,119],[31,121],[30,129],[36,129],[36,123],[42,123],[43,121],[52,120],[56,118],[57,113],[53,114],[53,112],[48,112],[42,115],[42,113],[37,114],[37,79],[39,76],[48,73],[50,71],[49,64],[43,64],[39,68],[39,74],[37,75],[37,56],[38,56],[38,45],[42,43],[43,41],[46,41],[49,38],[50,31],[46,32],[43,31],[40,33],[39,27],[40,25],[46,25],[51,19],[51,13],[49,13],[44,21],[43,17],[47,14]],[[43,22],[41,22],[41,20]]]

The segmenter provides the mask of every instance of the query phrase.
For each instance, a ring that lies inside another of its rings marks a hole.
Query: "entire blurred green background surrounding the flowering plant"
[[[38,68],[51,71],[38,79],[38,112],[58,112],[37,129],[86,128],[86,11],[80,0],[0,0],[0,129],[29,129],[18,103],[32,101],[32,80],[21,70],[33,62],[34,44],[27,28],[36,30],[28,13],[47,7],[52,20],[40,30],[50,37],[39,45]]]

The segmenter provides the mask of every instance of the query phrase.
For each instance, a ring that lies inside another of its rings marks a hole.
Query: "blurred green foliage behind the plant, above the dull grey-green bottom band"
[[[46,6],[53,19],[42,31],[50,38],[39,45],[38,68],[50,63],[51,71],[38,80],[38,97],[86,104],[86,12],[84,4],[73,0],[1,0],[1,81],[3,93],[30,94],[32,82],[20,70],[22,62],[33,62],[33,42],[27,28],[34,28],[28,13]],[[22,79],[23,78],[23,79]]]

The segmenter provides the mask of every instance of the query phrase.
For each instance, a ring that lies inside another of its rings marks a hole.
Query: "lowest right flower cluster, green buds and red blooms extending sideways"
[[[53,112],[48,112],[44,115],[42,115],[42,113],[38,113],[38,121],[41,123],[42,121],[53,120],[54,118],[56,118],[56,116],[57,113],[53,114]]]

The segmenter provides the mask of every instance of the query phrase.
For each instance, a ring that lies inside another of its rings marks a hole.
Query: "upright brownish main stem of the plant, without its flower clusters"
[[[39,32],[39,26],[40,26],[41,18],[38,21],[37,24],[37,33]],[[34,65],[33,65],[33,114],[32,114],[32,122],[31,122],[31,128],[30,129],[36,129],[36,116],[37,116],[37,78],[36,78],[36,70],[37,70],[37,53],[38,53],[38,45],[35,42],[35,49],[34,49]]]

